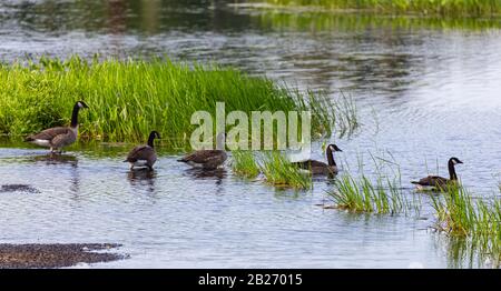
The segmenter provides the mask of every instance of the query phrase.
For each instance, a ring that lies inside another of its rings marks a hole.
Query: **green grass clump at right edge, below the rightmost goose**
[[[450,235],[466,238],[483,253],[501,259],[501,199],[473,199],[463,187],[449,187],[433,197],[436,228]]]

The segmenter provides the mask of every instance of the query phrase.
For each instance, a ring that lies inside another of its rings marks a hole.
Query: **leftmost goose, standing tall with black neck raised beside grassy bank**
[[[70,146],[78,137],[78,112],[82,108],[89,108],[84,101],[77,101],[71,114],[71,124],[69,127],[57,127],[46,129],[37,134],[29,136],[24,141],[39,147],[50,148],[51,152],[62,152],[62,148]]]

